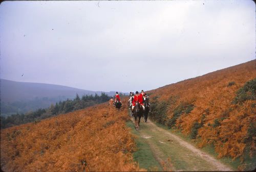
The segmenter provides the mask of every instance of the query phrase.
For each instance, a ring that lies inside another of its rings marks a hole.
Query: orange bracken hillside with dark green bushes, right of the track
[[[246,150],[255,157],[255,78],[253,60],[148,91],[151,116],[198,139],[198,146],[214,145],[219,158],[243,161]]]

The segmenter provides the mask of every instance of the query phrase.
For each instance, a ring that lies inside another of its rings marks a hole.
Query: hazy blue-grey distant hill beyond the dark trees
[[[101,91],[90,91],[54,84],[16,82],[0,79],[1,114],[26,113],[38,108],[47,108],[51,104],[79,96],[90,95]],[[114,95],[115,91],[105,92]]]

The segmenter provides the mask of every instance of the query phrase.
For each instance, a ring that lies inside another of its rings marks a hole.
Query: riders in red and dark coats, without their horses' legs
[[[138,91],[136,91],[135,94],[134,94],[134,92],[130,92],[128,106],[129,106],[129,109],[131,110],[132,115],[133,115],[135,103],[137,101],[139,102],[143,111],[145,110],[145,107],[148,107],[149,112],[151,111],[150,98],[147,96],[146,93],[144,93],[143,90],[141,90],[140,93]],[[114,105],[115,107],[117,104],[120,104],[120,107],[122,106],[122,102],[120,100],[120,96],[119,96],[118,92],[116,92],[115,101],[113,100],[113,97],[111,97],[109,103],[110,103],[110,105]]]

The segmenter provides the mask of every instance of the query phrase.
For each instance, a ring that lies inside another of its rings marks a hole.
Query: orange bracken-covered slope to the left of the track
[[[4,171],[138,171],[126,109],[107,104],[1,130]]]

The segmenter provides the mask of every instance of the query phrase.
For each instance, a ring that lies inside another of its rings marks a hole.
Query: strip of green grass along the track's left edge
[[[135,139],[137,151],[133,153],[133,158],[136,162],[139,163],[140,168],[154,171],[163,170],[159,162],[155,159],[150,145],[148,145],[146,140],[141,138],[138,131],[135,130],[133,122],[127,121],[126,125],[132,129],[132,134],[137,136]]]

